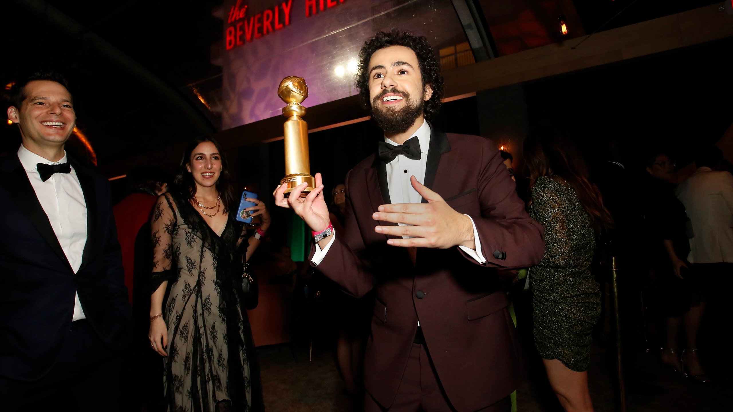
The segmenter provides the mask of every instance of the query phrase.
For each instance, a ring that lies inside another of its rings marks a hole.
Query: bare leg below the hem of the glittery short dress
[[[588,372],[575,372],[557,359],[542,359],[550,386],[567,412],[593,412],[588,391]]]

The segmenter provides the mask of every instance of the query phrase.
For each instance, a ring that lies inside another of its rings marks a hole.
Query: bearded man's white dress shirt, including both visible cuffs
[[[422,125],[415,132],[415,136],[420,141],[420,160],[413,160],[405,157],[404,155],[397,155],[393,161],[387,163],[387,185],[389,190],[389,198],[392,204],[396,203],[421,203],[422,196],[412,187],[410,183],[410,176],[415,176],[418,182],[424,183],[425,181],[425,169],[427,168],[427,150],[430,148],[430,125],[427,121],[423,121]],[[389,144],[398,146],[397,143],[391,141],[388,137],[384,138]],[[465,215],[468,216],[468,215]],[[471,219],[471,225],[474,227],[474,243],[476,243],[476,250],[469,249],[465,246],[458,246],[461,250],[465,251],[468,256],[473,257],[479,263],[485,263],[486,259],[481,252],[481,241],[479,240],[479,232],[476,230],[476,224],[474,219]],[[405,226],[399,224],[399,226]],[[334,231],[334,239],[336,233]],[[402,236],[402,238],[409,238],[409,236]],[[328,253],[328,249],[331,249],[331,245],[334,244],[334,240],[328,243],[328,246],[323,251],[316,243],[316,251],[313,254],[311,260],[314,265],[320,264],[323,257]]]

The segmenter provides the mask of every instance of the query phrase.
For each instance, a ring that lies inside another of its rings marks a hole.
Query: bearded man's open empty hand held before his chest
[[[419,183],[414,176],[410,177],[410,183],[423,199],[427,199],[427,204],[381,205],[372,218],[413,226],[377,226],[375,232],[413,236],[410,239],[388,239],[387,243],[392,246],[449,249],[460,245],[476,249],[471,218],[453,210],[441,195]]]

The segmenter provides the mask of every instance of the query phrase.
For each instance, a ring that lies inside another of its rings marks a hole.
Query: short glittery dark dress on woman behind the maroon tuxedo
[[[600,288],[590,265],[595,235],[568,183],[539,177],[529,215],[545,227],[545,254],[529,273],[534,344],[545,359],[576,372],[588,369],[591,332],[600,317]]]

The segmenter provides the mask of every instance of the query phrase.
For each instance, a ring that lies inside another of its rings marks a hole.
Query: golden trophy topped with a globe
[[[285,138],[285,177],[280,180],[281,185],[287,185],[284,196],[297,185],[308,183],[303,189],[301,197],[306,196],[316,187],[316,180],[311,176],[311,161],[308,152],[308,123],[302,119],[306,108],[301,106],[308,97],[308,85],[305,79],[296,76],[287,76],[280,82],[277,95],[287,106],[282,108],[282,115],[287,117],[284,124]]]

